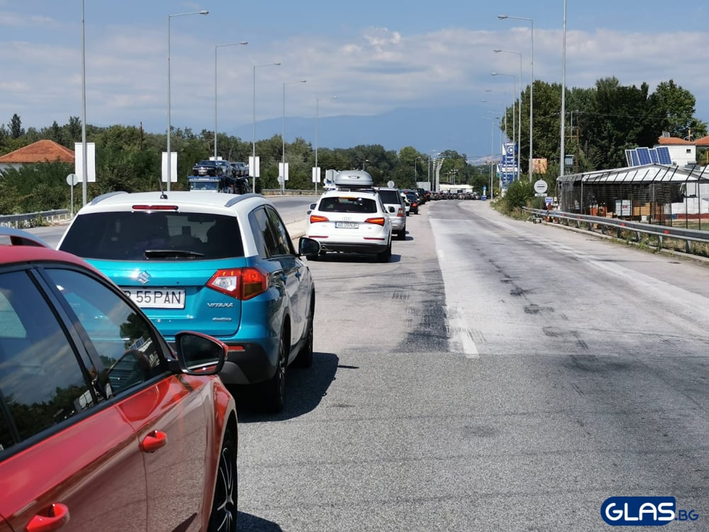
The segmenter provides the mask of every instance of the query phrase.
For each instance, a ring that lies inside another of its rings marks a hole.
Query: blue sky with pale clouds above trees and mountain
[[[318,99],[320,117],[468,105],[471,130],[489,131],[480,109],[511,104],[520,62],[523,84],[530,78],[531,24],[501,21],[500,14],[533,19],[535,79],[562,79],[563,0],[85,0],[84,6],[86,122],[96,126],[165,130],[167,16],[203,9],[207,16],[170,18],[170,120],[196,132],[214,128],[215,50],[218,129],[226,133],[252,123],[253,65],[273,62],[281,66],[256,69],[257,121],[281,118],[286,83],[289,117],[314,117]],[[708,15],[705,0],[567,0],[567,87],[615,76],[654,89],[674,79],[696,96],[698,118],[709,121]],[[14,113],[25,128],[82,116],[81,21],[81,0],[0,0],[0,123]],[[242,40],[248,45],[220,46]],[[300,79],[306,83],[294,83]],[[471,134],[467,152],[489,152],[484,138]],[[430,146],[446,148],[435,139],[415,147],[426,153]]]

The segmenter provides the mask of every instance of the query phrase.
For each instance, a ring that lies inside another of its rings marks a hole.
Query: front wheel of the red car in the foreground
[[[236,448],[233,434],[227,429],[219,453],[208,532],[236,532],[238,493],[236,480]]]

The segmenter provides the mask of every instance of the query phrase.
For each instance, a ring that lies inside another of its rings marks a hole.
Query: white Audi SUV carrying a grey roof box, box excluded
[[[376,255],[380,262],[391,257],[391,221],[374,190],[330,190],[311,205],[306,236],[320,243],[320,255],[328,252]],[[308,255],[316,260],[318,255]]]

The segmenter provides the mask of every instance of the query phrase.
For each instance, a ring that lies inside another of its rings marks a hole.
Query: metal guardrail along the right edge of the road
[[[623,218],[605,218],[604,216],[590,216],[587,214],[575,214],[564,211],[547,211],[545,209],[530,209],[525,207],[524,211],[532,214],[533,221],[542,221],[549,218],[565,226],[575,226],[588,231],[600,232],[605,235],[608,231],[613,231],[616,238],[623,238],[624,231],[635,233],[635,238],[640,241],[640,235],[651,235],[657,238],[657,248],[664,247],[665,238],[674,238],[684,241],[685,253],[693,253],[691,243],[709,243],[709,231],[698,231],[696,229],[676,228],[671,226],[661,226],[653,223],[643,223],[637,221],[623,220]]]

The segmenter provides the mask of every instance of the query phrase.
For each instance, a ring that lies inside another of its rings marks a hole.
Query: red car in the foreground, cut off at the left
[[[0,228],[0,532],[236,529],[226,346]]]

